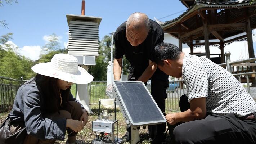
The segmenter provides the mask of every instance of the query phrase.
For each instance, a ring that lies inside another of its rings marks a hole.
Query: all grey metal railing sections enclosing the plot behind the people
[[[237,60],[230,62],[230,52],[226,52],[226,63],[219,64],[222,67],[227,67],[227,70],[232,73],[231,66],[234,64],[241,64],[245,62],[255,62],[256,58]],[[251,94],[249,75],[256,75],[256,72],[246,72],[246,73],[235,73],[233,76],[241,82],[241,78],[246,78],[247,91]],[[15,95],[19,86],[24,81],[15,80],[12,78],[6,78],[0,76],[0,111],[5,111],[12,107]],[[255,76],[256,83],[256,76]],[[183,84],[182,80],[169,81],[169,88],[166,89],[167,98],[165,99],[166,110],[179,111],[179,98],[181,95],[186,94],[186,86]],[[99,99],[108,98],[105,94],[105,89],[107,87],[107,81],[92,81],[89,85],[89,102],[90,105],[98,104]],[[147,84],[147,88],[151,91],[151,82]],[[256,90],[256,88],[255,88]]]

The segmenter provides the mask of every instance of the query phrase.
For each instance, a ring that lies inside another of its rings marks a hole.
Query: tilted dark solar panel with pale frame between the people
[[[144,126],[165,123],[160,108],[143,82],[114,81],[116,101],[130,126]]]

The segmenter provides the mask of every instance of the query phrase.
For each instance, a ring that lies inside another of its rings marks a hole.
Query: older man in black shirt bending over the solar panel
[[[168,76],[157,68],[154,63],[154,47],[163,42],[164,32],[155,21],[144,13],[133,13],[122,23],[114,34],[116,45],[114,59],[114,80],[120,80],[122,73],[122,58],[125,55],[130,62],[129,81],[151,80],[151,94],[162,112],[165,112],[166,88]],[[149,113],[151,114],[151,113]],[[157,130],[156,130],[157,127]],[[159,144],[163,140],[166,125],[149,126],[149,133],[156,139],[152,143]],[[128,129],[130,132],[131,129]],[[131,134],[129,134],[131,139]]]

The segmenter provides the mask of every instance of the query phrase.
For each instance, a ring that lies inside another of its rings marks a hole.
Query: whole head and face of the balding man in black
[[[144,13],[136,12],[126,21],[126,38],[132,46],[138,46],[147,38],[150,30],[150,21]]]

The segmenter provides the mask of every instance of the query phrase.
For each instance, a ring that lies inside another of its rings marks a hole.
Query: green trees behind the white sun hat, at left
[[[60,49],[58,36],[53,33],[50,35],[49,42],[46,46],[50,49],[45,54],[40,55],[40,59],[35,62],[21,56],[17,53],[18,47],[8,44],[12,39],[13,33],[7,33],[0,36],[0,76],[9,77],[14,79],[29,80],[34,77],[31,67],[37,63],[50,62],[53,55],[57,53],[67,53],[67,49]],[[58,48],[58,49],[57,49]]]

